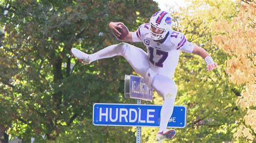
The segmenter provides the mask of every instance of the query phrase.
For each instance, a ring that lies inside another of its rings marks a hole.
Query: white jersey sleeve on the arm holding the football
[[[145,23],[139,26],[136,32],[132,32],[133,42],[143,42],[144,35],[149,32],[149,24]]]

